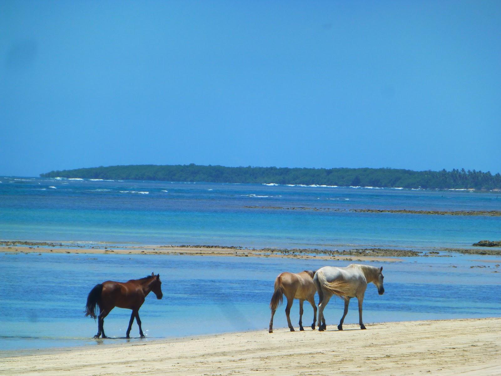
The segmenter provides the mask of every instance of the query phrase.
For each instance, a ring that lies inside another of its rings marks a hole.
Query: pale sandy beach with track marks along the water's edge
[[[71,375],[501,374],[501,318],[276,329],[0,358],[0,373]],[[1,353],[0,353],[1,354]]]

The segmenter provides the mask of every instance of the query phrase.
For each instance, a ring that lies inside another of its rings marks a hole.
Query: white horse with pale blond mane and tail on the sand
[[[332,295],[340,296],[345,301],[345,310],[338,329],[343,330],[343,321],[348,313],[348,304],[350,299],[357,297],[358,299],[358,315],[360,328],[365,329],[362,322],[362,303],[368,283],[374,283],[377,287],[379,295],[384,294],[383,287],[383,267],[380,269],[369,266],[351,264],[345,268],[336,268],[333,266],[325,266],[320,268],[313,277],[313,282],[317,287],[319,295],[318,304],[318,330],[326,329],[324,308],[329,303]]]

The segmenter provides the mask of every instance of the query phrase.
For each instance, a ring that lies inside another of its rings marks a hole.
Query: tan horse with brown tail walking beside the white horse
[[[275,292],[270,302],[270,309],[272,310],[272,318],[270,320],[270,333],[273,333],[273,316],[279,304],[282,304],[284,295],[287,298],[287,307],[285,314],[287,316],[287,323],[291,331],[294,327],[291,324],[291,307],[294,299],[299,299],[299,330],[303,328],[303,302],[308,300],[313,307],[313,324],[312,329],[315,329],[315,321],[317,319],[317,306],[315,305],[315,293],[317,289],[313,283],[314,271],[305,270],[304,272],[294,274],[289,272],[281,273],[275,280]]]

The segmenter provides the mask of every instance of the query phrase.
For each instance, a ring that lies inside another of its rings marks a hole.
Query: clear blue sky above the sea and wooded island
[[[0,175],[501,172],[501,2],[0,0]]]

